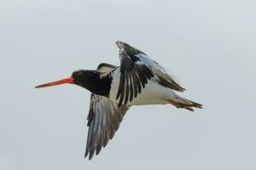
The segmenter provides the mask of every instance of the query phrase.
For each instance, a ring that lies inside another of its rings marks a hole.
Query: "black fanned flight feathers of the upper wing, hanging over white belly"
[[[119,48],[120,59],[120,80],[116,99],[119,99],[119,106],[126,105],[128,101],[141,94],[142,88],[148,83],[153,72],[143,63],[138,54],[143,54],[137,48],[132,48],[125,42],[116,42]]]

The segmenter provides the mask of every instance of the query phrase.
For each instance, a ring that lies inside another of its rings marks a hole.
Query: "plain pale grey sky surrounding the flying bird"
[[[256,168],[256,3],[2,0],[0,169]],[[170,70],[205,107],[132,107],[107,148],[84,159],[90,93],[35,89],[130,43]]]

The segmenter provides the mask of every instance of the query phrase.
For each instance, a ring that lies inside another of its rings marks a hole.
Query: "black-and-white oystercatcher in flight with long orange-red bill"
[[[132,105],[166,105],[194,111],[203,105],[177,95],[183,88],[171,73],[151,59],[148,54],[126,42],[117,41],[120,65],[101,63],[96,70],[73,71],[71,77],[38,85],[46,88],[60,84],[75,84],[90,91],[87,116],[89,160],[98,155],[113,139],[126,111]]]

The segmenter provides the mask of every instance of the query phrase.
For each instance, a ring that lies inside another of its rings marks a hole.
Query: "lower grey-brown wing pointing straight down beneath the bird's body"
[[[102,146],[108,144],[108,140],[113,138],[114,133],[119,128],[125,112],[129,107],[113,103],[111,100],[91,94],[90,111],[87,117],[89,127],[85,157],[89,155],[89,159],[100,153]]]

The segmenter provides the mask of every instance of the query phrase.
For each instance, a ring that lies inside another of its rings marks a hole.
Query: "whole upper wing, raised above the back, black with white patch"
[[[119,99],[119,106],[126,105],[129,100],[131,102],[136,98],[137,94],[141,94],[142,88],[145,88],[151,78],[166,88],[184,90],[165,68],[147,54],[125,42],[116,42],[116,44],[119,48],[121,63],[119,89],[116,96],[116,99]]]

